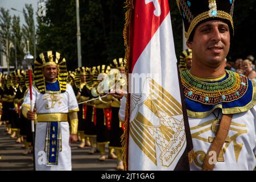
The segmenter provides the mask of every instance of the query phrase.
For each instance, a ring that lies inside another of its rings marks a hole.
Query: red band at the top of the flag
[[[148,2],[147,5],[146,2]],[[160,16],[155,15],[156,13],[159,13],[158,6],[160,7]],[[138,60],[138,57],[150,42],[152,36],[155,34],[156,30],[158,30],[160,24],[169,12],[168,0],[151,0],[151,2],[150,0],[135,1],[131,71],[133,71],[133,67]]]

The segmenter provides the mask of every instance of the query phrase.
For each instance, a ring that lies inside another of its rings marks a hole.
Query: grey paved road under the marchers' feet
[[[15,143],[5,132],[5,126],[0,126],[0,170],[33,170],[32,154],[22,155],[23,144]],[[89,155],[89,147],[78,148],[80,142],[72,143],[72,170],[73,171],[112,171],[115,170],[117,160],[106,159],[100,162],[100,154]],[[106,151],[106,154],[108,152]]]

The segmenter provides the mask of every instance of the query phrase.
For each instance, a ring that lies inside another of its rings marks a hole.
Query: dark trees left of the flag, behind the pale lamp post
[[[38,51],[55,50],[77,68],[76,1],[48,0],[46,17],[38,17]],[[82,65],[108,64],[124,56],[122,1],[80,0]]]

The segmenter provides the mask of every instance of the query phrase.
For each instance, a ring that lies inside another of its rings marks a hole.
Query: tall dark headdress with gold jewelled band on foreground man
[[[221,19],[229,25],[230,35],[234,35],[234,0],[176,0],[183,18],[185,38],[206,20]]]

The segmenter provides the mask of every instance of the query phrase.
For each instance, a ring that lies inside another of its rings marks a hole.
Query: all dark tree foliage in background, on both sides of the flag
[[[125,21],[124,2],[115,0],[80,0],[82,65],[108,64],[114,57],[123,57],[122,30]],[[182,19],[176,1],[169,0],[176,56],[183,51]],[[236,1],[234,9],[235,37],[228,60],[255,55],[255,1]],[[75,0],[48,0],[46,17],[38,17],[38,53],[60,52],[69,69],[77,67],[77,24]]]

